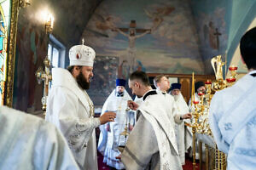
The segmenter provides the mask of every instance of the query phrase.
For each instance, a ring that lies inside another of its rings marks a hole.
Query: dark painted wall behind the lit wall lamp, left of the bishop
[[[43,13],[55,17],[53,36],[68,49],[80,42],[84,26],[102,0],[33,0],[20,8],[15,58],[15,109],[36,114],[41,110],[43,84],[38,85],[35,72],[47,54],[48,37],[44,31]],[[47,13],[46,13],[47,14]],[[66,65],[68,60],[66,56]]]

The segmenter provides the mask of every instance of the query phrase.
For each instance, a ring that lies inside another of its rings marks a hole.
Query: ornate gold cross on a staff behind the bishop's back
[[[48,57],[44,59],[44,71],[40,66],[38,71],[36,71],[36,77],[38,78],[38,83],[44,82],[44,96],[42,98],[42,110],[46,111],[46,104],[47,104],[47,97],[48,97],[48,89],[49,89],[49,82],[52,80],[52,76],[50,74],[50,61]],[[45,116],[45,115],[44,115]]]

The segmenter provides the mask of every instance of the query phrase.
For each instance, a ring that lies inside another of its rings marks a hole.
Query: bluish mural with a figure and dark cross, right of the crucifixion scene
[[[200,51],[206,74],[212,74],[211,59],[225,54],[228,42],[227,1],[192,0],[193,14],[200,39]]]

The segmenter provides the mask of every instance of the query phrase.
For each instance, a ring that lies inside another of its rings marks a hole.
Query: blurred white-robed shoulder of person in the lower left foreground
[[[0,106],[0,169],[79,170],[79,167],[54,125]]]

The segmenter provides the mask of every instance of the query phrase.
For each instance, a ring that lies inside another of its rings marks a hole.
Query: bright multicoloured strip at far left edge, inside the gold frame
[[[9,41],[10,0],[0,1],[0,105],[3,105]]]

